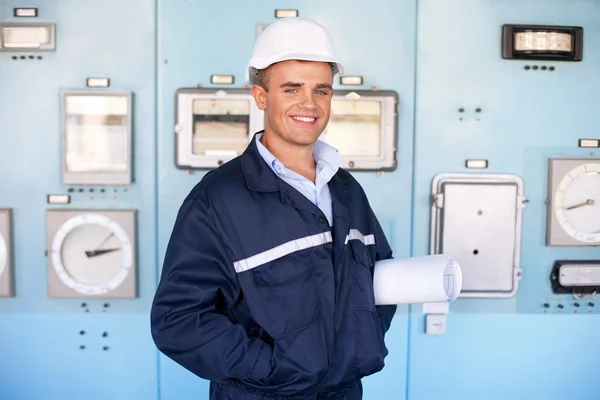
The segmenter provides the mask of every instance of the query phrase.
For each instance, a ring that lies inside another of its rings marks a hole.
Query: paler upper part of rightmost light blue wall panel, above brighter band
[[[464,167],[466,159],[488,159],[489,168],[483,173],[517,175],[529,200],[523,211],[523,279],[518,295],[501,301],[461,300],[453,305],[456,311],[545,312],[542,305],[555,298],[549,280],[552,263],[600,254],[598,247],[545,245],[547,159],[589,156],[589,149],[577,147],[578,139],[596,134],[597,112],[590,105],[600,101],[596,90],[600,55],[594,51],[600,29],[593,17],[600,4],[550,1],[542,8],[540,4],[419,3],[414,254],[429,251],[433,178],[442,172],[477,172]],[[460,21],[458,27],[456,21]],[[504,60],[501,32],[505,23],[583,26],[584,61]],[[524,69],[534,64],[556,69]],[[461,107],[465,112],[459,112]],[[478,107],[480,113],[475,111]],[[572,303],[565,303],[568,312],[574,311]],[[550,310],[560,309],[553,306]]]

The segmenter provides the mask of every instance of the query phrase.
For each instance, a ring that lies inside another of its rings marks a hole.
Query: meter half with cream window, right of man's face
[[[393,91],[336,90],[320,139],[339,151],[343,168],[394,169],[397,104],[398,94]]]

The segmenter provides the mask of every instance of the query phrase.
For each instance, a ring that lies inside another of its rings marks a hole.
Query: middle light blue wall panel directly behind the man
[[[159,1],[158,176],[159,264],[177,210],[204,171],[181,171],[174,164],[174,97],[181,87],[211,87],[211,74],[235,75],[243,87],[245,67],[256,40],[257,24],[274,21],[275,9],[298,9],[300,16],[322,22],[336,42],[348,75],[362,75],[368,89],[399,94],[399,165],[381,176],[355,173],[396,257],[410,255],[412,132],[414,96],[415,2],[261,1],[244,3]],[[337,83],[336,87],[340,88]],[[359,89],[359,88],[356,88]],[[160,265],[159,265],[160,268]],[[407,307],[399,307],[387,336],[390,356],[377,376],[365,380],[365,398],[402,398],[405,393]],[[208,383],[161,357],[161,394],[165,399],[207,398]]]

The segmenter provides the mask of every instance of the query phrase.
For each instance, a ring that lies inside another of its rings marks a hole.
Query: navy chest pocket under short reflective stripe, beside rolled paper
[[[358,310],[375,310],[375,293],[373,291],[373,273],[375,262],[369,246],[360,240],[348,242],[352,249],[354,261],[354,306]]]

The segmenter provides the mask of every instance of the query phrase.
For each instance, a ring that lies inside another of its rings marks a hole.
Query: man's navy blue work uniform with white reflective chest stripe
[[[211,400],[358,400],[384,367],[396,306],[375,305],[373,267],[392,251],[358,182],[329,188],[333,229],[252,140],[183,201],[151,332]]]

